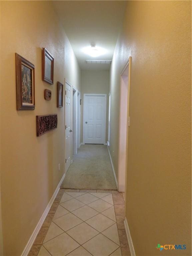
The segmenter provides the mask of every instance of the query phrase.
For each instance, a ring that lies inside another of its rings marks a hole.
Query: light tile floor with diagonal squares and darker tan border
[[[130,256],[124,194],[60,189],[28,256]]]

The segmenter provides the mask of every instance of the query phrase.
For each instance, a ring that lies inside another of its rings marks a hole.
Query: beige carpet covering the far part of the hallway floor
[[[107,146],[81,145],[61,188],[116,190]]]

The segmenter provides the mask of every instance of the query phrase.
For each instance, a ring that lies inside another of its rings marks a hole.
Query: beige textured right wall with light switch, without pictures
[[[132,56],[126,218],[136,255],[191,255],[191,1],[128,1],[111,66],[117,170],[120,72]]]

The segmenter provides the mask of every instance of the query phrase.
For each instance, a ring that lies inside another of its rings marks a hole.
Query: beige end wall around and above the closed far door
[[[83,142],[83,94],[107,94],[106,141],[108,138],[109,70],[82,70],[81,72],[81,142]]]

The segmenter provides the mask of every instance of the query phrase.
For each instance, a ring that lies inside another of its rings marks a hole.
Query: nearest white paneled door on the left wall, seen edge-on
[[[71,85],[65,83],[65,170],[71,165]]]

